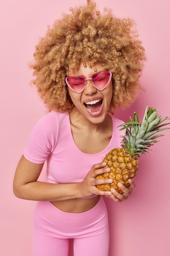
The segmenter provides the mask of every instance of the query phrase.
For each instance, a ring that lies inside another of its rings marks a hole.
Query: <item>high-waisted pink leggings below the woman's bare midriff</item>
[[[68,256],[74,238],[74,256],[108,256],[109,225],[105,202],[83,213],[66,213],[49,201],[38,201],[33,221],[34,256]]]

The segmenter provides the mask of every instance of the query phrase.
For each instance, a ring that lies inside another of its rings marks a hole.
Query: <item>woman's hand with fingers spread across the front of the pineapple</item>
[[[99,174],[103,174],[103,173],[109,173],[109,171],[111,171],[110,168],[102,168],[106,165],[106,163],[103,165],[102,163],[99,164],[94,164],[92,166],[92,168],[90,169],[90,171],[87,173],[87,175],[85,176],[84,180],[82,182],[79,183],[79,190],[80,190],[80,194],[81,197],[89,197],[92,194],[96,194],[96,195],[111,195],[111,191],[101,191],[99,189],[96,188],[96,185],[98,184],[108,184],[108,183],[112,183],[112,180],[109,179],[95,179],[95,177]],[[99,169],[101,168],[101,169]]]

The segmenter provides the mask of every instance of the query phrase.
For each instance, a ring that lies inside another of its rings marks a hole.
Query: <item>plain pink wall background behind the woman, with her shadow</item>
[[[32,256],[32,219],[35,201],[13,195],[13,176],[31,130],[46,108],[35,88],[28,83],[28,69],[34,47],[62,12],[69,13],[85,0],[15,0],[1,6],[1,94],[0,94],[0,253],[4,256]],[[162,117],[170,116],[170,34],[168,0],[96,0],[98,9],[111,7],[120,18],[133,18],[139,39],[146,49],[140,91],[136,101],[116,117],[129,121],[136,111],[140,121],[146,105],[159,109]],[[119,204],[105,199],[109,212],[109,256],[170,256],[170,130],[161,134],[160,142],[150,155],[140,158],[135,189]],[[46,163],[39,180],[45,181]],[[101,246],[101,245],[99,245]],[[70,242],[70,256],[72,241]]]

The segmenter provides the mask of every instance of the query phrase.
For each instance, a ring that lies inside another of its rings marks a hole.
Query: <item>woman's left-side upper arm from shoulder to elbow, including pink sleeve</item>
[[[55,147],[57,121],[55,112],[41,117],[35,124],[24,153],[17,164],[13,192],[20,193],[24,184],[37,181],[44,162]],[[16,194],[15,194],[16,195]]]

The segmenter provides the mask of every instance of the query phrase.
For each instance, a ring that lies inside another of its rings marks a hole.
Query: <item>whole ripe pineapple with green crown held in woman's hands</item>
[[[148,106],[146,106],[145,114],[141,124],[139,124],[137,113],[134,112],[134,120],[132,120],[130,117],[130,121],[128,123],[124,123],[118,126],[124,126],[120,130],[126,129],[126,135],[121,136],[123,138],[121,148],[112,149],[107,155],[105,155],[105,158],[102,160],[102,162],[107,163],[104,168],[110,167],[111,171],[109,173],[98,175],[95,178],[110,178],[113,179],[113,182],[110,184],[96,185],[97,189],[110,191],[111,188],[114,188],[118,193],[122,194],[123,191],[117,186],[117,184],[121,182],[126,188],[130,186],[127,181],[129,178],[133,180],[137,173],[137,157],[139,158],[140,155],[145,154],[145,152],[148,153],[148,150],[150,150],[148,147],[158,142],[156,139],[164,135],[155,135],[153,137],[151,136],[161,130],[170,129],[161,128],[166,124],[159,125],[166,119],[170,120],[170,118],[161,118],[161,116],[159,117],[157,115],[157,112],[157,109],[153,109],[152,107],[148,109]],[[107,197],[110,198],[109,195]]]

